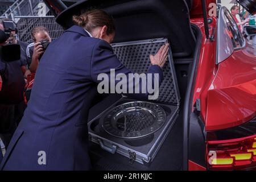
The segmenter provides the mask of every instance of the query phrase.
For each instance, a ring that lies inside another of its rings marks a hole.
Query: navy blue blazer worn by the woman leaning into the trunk
[[[87,170],[88,111],[99,73],[131,73],[101,39],[73,26],[44,53],[30,101],[7,148],[3,170]],[[148,73],[159,73],[152,65]],[[44,158],[45,157],[45,158]],[[45,159],[45,160],[44,160]]]

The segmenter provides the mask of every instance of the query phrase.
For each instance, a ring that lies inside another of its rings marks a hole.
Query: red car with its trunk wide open
[[[130,164],[125,156],[102,150],[111,150],[104,143],[91,142],[95,169],[256,168],[256,48],[244,38],[226,7],[216,16],[214,0],[88,0],[67,10],[61,1],[45,2],[59,14],[57,22],[65,28],[72,25],[72,15],[99,7],[116,21],[114,43],[156,38],[171,43],[180,111],[154,160],[148,166]],[[240,1],[249,11],[255,7],[255,1],[251,6],[245,2]],[[105,98],[92,108],[90,118],[114,102]],[[134,160],[131,153],[128,157]]]

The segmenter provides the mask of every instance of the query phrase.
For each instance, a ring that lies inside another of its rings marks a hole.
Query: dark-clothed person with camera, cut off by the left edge
[[[10,43],[13,31],[16,31],[13,22],[0,23],[0,137],[5,146],[8,146],[25,108],[25,81],[20,61],[20,45]]]

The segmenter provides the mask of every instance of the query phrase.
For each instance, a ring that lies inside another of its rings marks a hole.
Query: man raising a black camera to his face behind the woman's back
[[[38,69],[40,57],[42,57],[48,44],[51,42],[51,37],[49,36],[49,32],[46,27],[35,27],[31,31],[31,36],[34,43],[30,44],[30,46],[34,46],[34,51],[32,53],[32,61],[29,68],[32,73],[35,73],[36,69]],[[28,46],[28,48],[30,48],[30,46]],[[28,55],[28,57],[29,56],[30,55]]]

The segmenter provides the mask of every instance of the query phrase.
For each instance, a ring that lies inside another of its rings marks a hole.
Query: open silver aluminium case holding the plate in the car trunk
[[[113,51],[117,55],[118,59],[122,61],[122,63],[131,71],[135,73],[143,73],[146,72],[145,70],[148,69],[145,64],[143,68],[137,69],[138,66],[135,65],[134,67],[131,66],[131,64],[127,64],[127,61],[129,60],[123,60],[122,54],[123,49],[124,51],[127,51],[127,46],[141,46],[144,47],[151,46],[152,44],[155,44],[156,46],[154,49],[146,50],[147,55],[149,57],[150,54],[155,54],[156,51],[162,46],[163,44],[167,43],[167,39],[161,38],[161,39],[151,39],[151,40],[141,40],[141,41],[135,41],[135,42],[126,42],[126,43],[117,43],[113,44]],[[120,48],[121,49],[117,49]],[[122,49],[123,48],[123,49]],[[130,59],[133,59],[133,57],[130,57]],[[136,61],[136,60],[133,60]],[[150,65],[150,60],[144,59],[144,62],[147,61],[147,66]],[[149,62],[148,62],[149,61]],[[110,135],[104,131],[103,127],[100,123],[100,118],[104,117],[106,112],[108,112],[110,109],[113,109],[113,107],[121,105],[126,102],[136,101],[130,98],[121,98],[121,100],[115,102],[111,107],[106,109],[104,112],[102,112],[100,115],[98,115],[96,118],[94,118],[92,121],[88,123],[88,131],[89,131],[89,140],[91,140],[94,143],[97,143],[100,145],[100,147],[103,150],[106,150],[112,154],[118,153],[123,156],[126,156],[129,158],[129,162],[133,163],[134,161],[149,165],[151,164],[152,160],[155,158],[157,152],[159,151],[159,148],[162,146],[162,143],[164,142],[164,139],[166,139],[168,133],[170,133],[172,126],[174,125],[178,113],[179,113],[179,101],[180,101],[180,95],[179,90],[177,87],[177,80],[176,80],[176,73],[174,69],[174,61],[172,59],[171,49],[168,53],[168,63],[163,68],[164,72],[164,81],[163,84],[166,84],[167,82],[171,82],[171,86],[162,85],[160,86],[159,90],[159,99],[156,102],[159,106],[162,106],[166,109],[166,122],[162,126],[161,129],[155,131],[150,142],[146,142],[144,144],[141,144],[141,146],[134,146],[134,144],[130,144],[129,141],[134,141],[136,139],[124,139],[124,138],[118,138],[114,137],[113,135]],[[166,78],[167,72],[168,78]],[[170,76],[171,75],[171,76]],[[171,81],[170,81],[171,77]],[[162,88],[161,88],[162,87]],[[174,96],[168,97],[164,94],[170,94],[172,93]],[[151,102],[151,101],[149,101]],[[171,110],[171,112],[170,112]],[[134,158],[135,156],[135,158]]]

